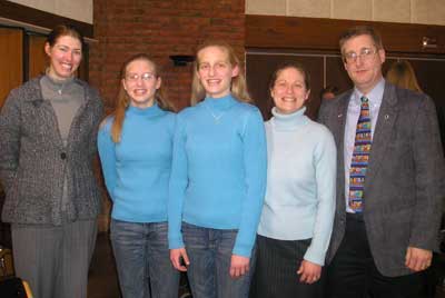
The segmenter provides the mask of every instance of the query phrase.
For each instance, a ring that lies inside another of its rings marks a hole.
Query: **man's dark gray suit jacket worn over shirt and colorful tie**
[[[337,205],[327,261],[345,234],[344,135],[352,90],[323,102],[319,121],[337,145]],[[444,198],[445,166],[437,116],[425,95],[386,83],[365,179],[364,219],[378,270],[395,277],[408,246],[434,250]]]

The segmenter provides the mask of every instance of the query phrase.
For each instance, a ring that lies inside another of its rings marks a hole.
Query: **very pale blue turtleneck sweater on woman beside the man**
[[[324,265],[335,211],[336,147],[306,108],[266,122],[267,190],[258,234],[278,240],[312,238],[304,258]]]

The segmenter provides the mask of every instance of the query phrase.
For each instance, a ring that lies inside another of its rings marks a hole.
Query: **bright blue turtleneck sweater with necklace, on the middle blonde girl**
[[[266,137],[259,110],[230,95],[206,98],[177,118],[170,179],[170,249],[181,221],[238,229],[233,254],[250,257],[266,189]]]

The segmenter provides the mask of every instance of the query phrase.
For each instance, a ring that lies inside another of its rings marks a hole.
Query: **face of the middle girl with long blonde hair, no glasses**
[[[231,78],[238,76],[239,68],[230,63],[228,52],[224,48],[210,46],[201,49],[197,58],[197,76],[206,95],[212,98],[229,95]]]

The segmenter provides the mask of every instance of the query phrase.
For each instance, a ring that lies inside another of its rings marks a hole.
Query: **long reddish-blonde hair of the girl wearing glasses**
[[[128,66],[132,61],[137,61],[137,60],[145,60],[145,61],[149,62],[150,64],[152,64],[156,78],[160,78],[159,68],[155,63],[155,61],[151,60],[150,57],[146,53],[138,53],[138,54],[130,57],[123,63],[122,69],[120,71],[121,80],[125,79],[125,77],[127,74]],[[158,103],[159,108],[161,108],[162,110],[176,111],[174,105],[167,99],[167,97],[165,95],[165,89],[162,88],[162,83],[156,90],[155,101]],[[120,142],[120,137],[122,133],[122,126],[123,126],[123,120],[125,120],[125,112],[129,105],[130,105],[130,98],[129,98],[127,91],[125,90],[122,82],[120,82],[116,109],[111,113],[111,116],[113,118],[112,126],[111,126],[111,139],[113,142]]]

